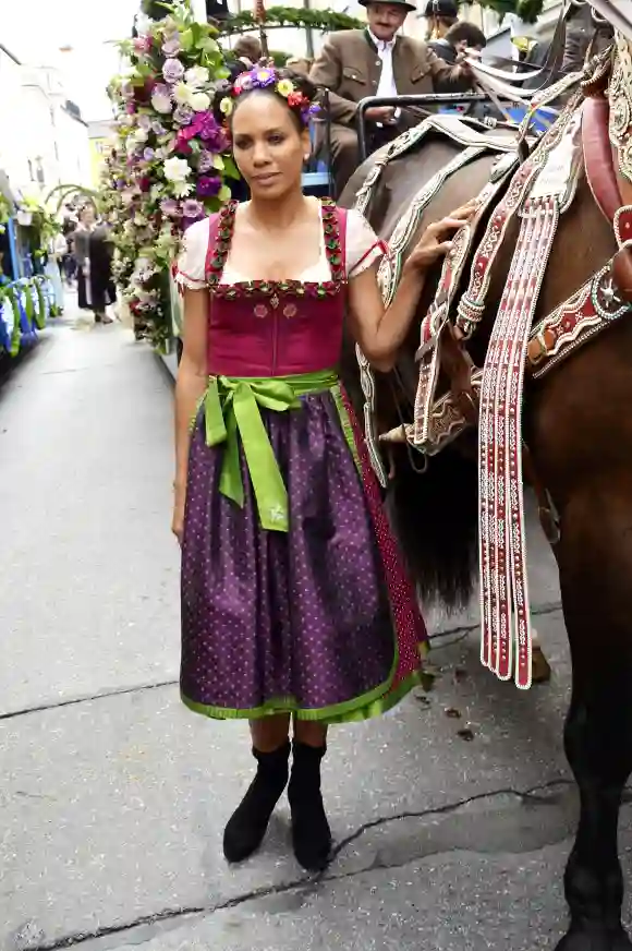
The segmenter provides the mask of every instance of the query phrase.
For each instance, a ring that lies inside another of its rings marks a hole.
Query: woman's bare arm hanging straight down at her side
[[[175,382],[175,491],[173,532],[181,540],[186,472],[191,442],[191,420],[207,386],[207,333],[209,296],[207,290],[184,290],[183,349]]]

